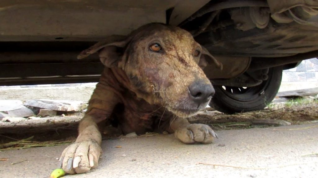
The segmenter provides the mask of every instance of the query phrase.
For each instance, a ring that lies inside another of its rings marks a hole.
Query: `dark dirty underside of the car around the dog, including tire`
[[[97,82],[103,65],[80,51],[151,22],[189,31],[223,64],[204,72],[222,112],[264,108],[283,69],[318,56],[315,0],[57,0],[0,2],[0,85]]]

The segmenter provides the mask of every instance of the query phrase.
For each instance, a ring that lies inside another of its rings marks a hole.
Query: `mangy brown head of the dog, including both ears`
[[[111,36],[78,58],[95,52],[105,66],[125,71],[138,97],[179,117],[190,117],[210,102],[214,89],[202,71],[207,62],[222,67],[189,32],[160,23],[142,26],[127,37]]]

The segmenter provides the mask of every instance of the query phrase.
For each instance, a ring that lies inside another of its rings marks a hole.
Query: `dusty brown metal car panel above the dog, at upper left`
[[[176,0],[2,0],[0,41],[96,41],[166,22]],[[87,38],[88,37],[88,38]]]

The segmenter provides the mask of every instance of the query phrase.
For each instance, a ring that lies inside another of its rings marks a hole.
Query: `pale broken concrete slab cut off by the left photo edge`
[[[5,117],[29,117],[34,113],[20,100],[0,100],[0,120]]]

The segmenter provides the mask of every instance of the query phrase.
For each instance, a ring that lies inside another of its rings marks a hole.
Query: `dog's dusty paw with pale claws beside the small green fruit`
[[[64,149],[59,167],[68,174],[79,174],[98,166],[101,148],[94,141],[75,142]]]

